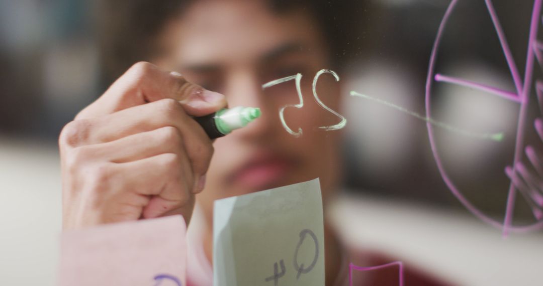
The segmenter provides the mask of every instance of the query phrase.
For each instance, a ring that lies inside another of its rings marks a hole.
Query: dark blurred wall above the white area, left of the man
[[[0,2],[0,135],[56,140],[97,94],[91,2]]]

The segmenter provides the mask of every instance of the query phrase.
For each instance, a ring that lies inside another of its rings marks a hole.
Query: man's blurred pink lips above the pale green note
[[[241,168],[238,168],[230,178],[235,185],[251,190],[261,190],[279,183],[292,170],[293,166],[293,160],[282,158],[279,155],[262,155],[249,160]]]

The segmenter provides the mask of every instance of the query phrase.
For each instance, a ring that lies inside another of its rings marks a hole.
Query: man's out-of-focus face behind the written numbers
[[[161,39],[167,53],[156,62],[162,67],[223,93],[229,107],[262,110],[261,118],[214,142],[206,187],[197,196],[208,220],[216,199],[317,177],[326,201],[339,172],[338,131],[318,127],[339,119],[313,99],[313,77],[330,63],[311,15],[301,9],[278,13],[266,1],[197,1],[167,25]],[[262,88],[296,73],[303,75],[304,107],[284,114],[293,131],[302,128],[299,138],[279,119],[281,107],[299,103],[295,82]],[[339,86],[331,75],[319,78],[317,92],[338,110]]]

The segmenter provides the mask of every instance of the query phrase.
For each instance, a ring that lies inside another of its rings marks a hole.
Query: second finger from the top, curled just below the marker
[[[205,134],[204,129],[184,112],[180,103],[172,99],[160,100],[147,105],[124,109],[123,111],[99,119],[73,121],[65,127],[65,130],[62,132],[63,135],[61,135],[61,140],[66,141],[66,145],[74,147],[93,144],[99,145],[165,127],[176,128],[178,132],[172,130],[172,128],[166,128],[160,132],[157,131],[157,138],[149,140],[153,140],[156,144],[171,145],[172,143],[176,144],[175,140],[181,138],[194,174],[204,175],[207,172],[211,156],[213,155],[211,140]],[[176,133],[179,134],[176,135]],[[132,138],[127,140],[132,140]],[[121,152],[123,155],[111,159],[121,161],[130,160],[128,158],[131,156],[130,153],[141,151],[136,145],[145,139],[134,140],[136,141],[133,141],[133,144],[121,143],[121,146],[125,146],[124,148],[132,148],[134,151],[123,150],[123,147],[117,147],[116,151]],[[157,142],[157,140],[162,141]],[[168,143],[168,140],[174,140],[174,142]],[[113,154],[111,151],[108,152]],[[144,157],[147,156],[142,155],[141,158]]]

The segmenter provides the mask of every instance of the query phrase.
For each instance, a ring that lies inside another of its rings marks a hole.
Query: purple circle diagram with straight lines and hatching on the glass
[[[515,86],[515,91],[509,92],[507,90],[502,90],[495,87],[482,85],[481,83],[458,79],[456,77],[446,76],[435,72],[435,62],[437,61],[441,37],[443,36],[443,31],[445,30],[447,22],[449,21],[449,18],[458,3],[458,0],[452,0],[449,4],[449,7],[445,11],[443,19],[441,20],[437,36],[432,47],[430,63],[428,64],[428,75],[426,78],[425,107],[427,118],[432,118],[431,90],[434,82],[444,82],[462,87],[475,88],[483,90],[490,95],[496,95],[500,98],[519,103],[520,112],[516,128],[514,158],[512,164],[504,168],[507,177],[510,178],[510,184],[508,189],[506,211],[503,222],[495,220],[487,216],[487,214],[483,213],[481,210],[477,209],[477,207],[473,205],[468,199],[466,199],[462,192],[459,191],[458,187],[453,183],[452,179],[447,174],[441,161],[441,158],[437,151],[437,145],[435,143],[433,126],[427,122],[426,127],[428,129],[428,138],[430,139],[430,145],[432,148],[435,163],[437,164],[441,177],[445,181],[447,187],[449,187],[453,195],[460,201],[460,203],[464,205],[464,207],[466,207],[466,209],[468,209],[471,213],[473,213],[476,217],[483,220],[484,222],[500,228],[502,230],[503,236],[506,237],[510,231],[525,232],[543,229],[543,220],[541,220],[541,218],[543,218],[543,184],[540,183],[541,180],[535,178],[533,174],[527,171],[525,165],[523,165],[521,162],[523,154],[524,152],[526,152],[526,156],[529,159],[529,162],[534,166],[535,170],[538,171],[537,177],[541,178],[541,175],[543,174],[539,172],[543,172],[543,166],[541,166],[540,160],[535,155],[535,151],[531,146],[527,146],[525,151],[524,132],[528,121],[528,102],[533,87],[532,77],[535,60],[537,60],[538,63],[543,66],[543,42],[538,41],[536,38],[539,28],[538,26],[540,24],[539,21],[541,15],[542,0],[534,0],[529,28],[529,38],[527,45],[528,50],[526,56],[524,79],[521,79],[521,74],[517,69],[517,65],[513,59],[511,50],[509,49],[506,36],[502,30],[492,1],[484,0],[484,2],[487,6],[490,18],[493,22],[494,29],[496,30],[498,40],[500,41],[501,49],[503,51],[503,55],[507,62],[507,66],[509,67],[509,72]],[[537,81],[535,83],[535,91],[536,95],[538,96],[540,108],[542,108],[541,106],[543,105],[543,82]],[[538,126],[538,124],[541,126],[541,128],[538,128],[540,127]],[[541,121],[536,120],[535,128],[538,131],[538,134],[540,134],[540,137],[543,139],[543,125],[541,124]],[[528,205],[531,206],[534,217],[537,220],[535,223],[529,225],[513,225],[513,211],[517,191],[522,194],[522,196],[526,199]]]

